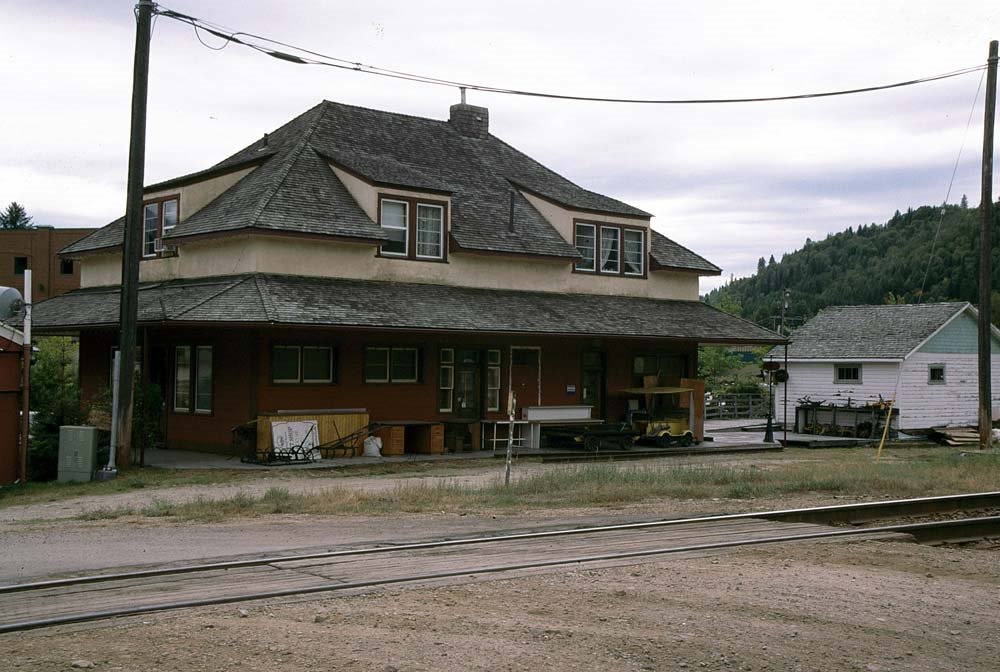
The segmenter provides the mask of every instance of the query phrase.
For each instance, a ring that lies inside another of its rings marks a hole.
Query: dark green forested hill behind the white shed
[[[1000,205],[993,218],[994,322],[1000,318]],[[940,233],[931,246],[940,222]],[[928,264],[929,260],[929,264]],[[784,290],[787,324],[833,305],[978,301],[979,210],[965,205],[898,210],[885,224],[851,227],[801,250],[757,263],[757,273],[713,290],[705,301],[774,328]],[[927,273],[924,282],[924,273]],[[921,297],[920,288],[924,286]]]

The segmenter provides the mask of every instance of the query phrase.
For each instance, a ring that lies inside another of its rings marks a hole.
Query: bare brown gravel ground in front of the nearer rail
[[[992,671],[1000,554],[801,543],[0,637],[4,669]]]

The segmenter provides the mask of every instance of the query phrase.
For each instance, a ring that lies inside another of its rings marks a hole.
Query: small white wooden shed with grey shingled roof
[[[794,421],[800,400],[865,406],[895,400],[899,427],[975,425],[979,416],[979,314],[968,303],[833,306],[789,337],[788,382],[775,417]],[[1000,331],[992,328],[993,417],[1000,411]],[[782,362],[784,348],[768,359]]]

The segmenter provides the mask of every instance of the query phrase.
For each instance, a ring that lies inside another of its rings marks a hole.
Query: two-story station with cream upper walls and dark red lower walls
[[[693,378],[700,343],[782,342],[699,302],[719,268],[650,218],[491,135],[485,108],[324,101],[145,189],[140,365],[167,445],[227,451],[231,428],[283,409],[476,436],[509,390],[615,420],[624,388]],[[85,395],[109,385],[122,228],[63,249],[82,287],[34,313],[79,334]]]

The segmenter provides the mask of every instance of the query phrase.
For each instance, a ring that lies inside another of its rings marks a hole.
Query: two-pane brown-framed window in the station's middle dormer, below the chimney
[[[389,241],[382,244],[380,254],[444,261],[445,205],[401,197],[381,198],[379,224],[389,234]],[[410,241],[415,244],[411,245]]]

